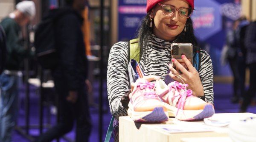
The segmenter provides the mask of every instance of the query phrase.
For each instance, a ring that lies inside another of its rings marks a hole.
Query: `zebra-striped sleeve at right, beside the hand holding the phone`
[[[205,101],[213,103],[213,69],[209,54],[201,49],[201,68],[199,76],[204,88]]]

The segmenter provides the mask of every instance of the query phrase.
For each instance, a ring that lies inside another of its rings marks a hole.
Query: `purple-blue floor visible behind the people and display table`
[[[111,120],[111,114],[109,112],[108,107],[108,100],[107,100],[107,92],[106,92],[106,84],[103,85],[104,91],[103,91],[103,126],[102,126],[102,142],[105,139],[105,134],[108,129],[109,122]],[[94,92],[94,100],[97,104],[99,100],[99,83],[93,84],[93,92]],[[230,103],[230,97],[232,96],[232,86],[230,84],[221,84],[221,83],[215,83],[214,84],[214,106],[215,106],[215,113],[234,113],[239,112],[239,103],[233,104]],[[24,91],[20,92],[20,112],[19,112],[19,119],[18,119],[18,125],[24,126],[25,124],[25,111],[24,111]],[[39,122],[38,119],[38,93],[35,87],[30,86],[30,125],[37,125]],[[256,106],[250,106],[247,110],[248,112],[255,113],[256,114]],[[90,136],[90,142],[100,142],[99,141],[99,111],[96,107],[90,107],[91,117],[93,121],[93,130],[92,134]],[[47,111],[45,110],[45,113]],[[50,114],[50,124],[55,124],[56,122],[56,116],[54,114]],[[44,117],[44,123],[47,123],[47,118]],[[47,129],[44,129],[46,131]],[[32,136],[38,136],[39,131],[38,128],[30,128],[29,134]],[[71,139],[73,141],[74,139],[74,131],[71,131],[66,135],[68,139]],[[29,142],[28,139],[26,139],[23,135],[18,133],[18,131],[15,131],[13,135],[13,142]],[[53,141],[53,142],[56,142]],[[61,138],[60,142],[66,142],[65,139]]]

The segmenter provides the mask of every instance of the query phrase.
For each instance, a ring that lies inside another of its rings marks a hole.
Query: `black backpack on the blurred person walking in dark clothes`
[[[35,53],[38,63],[44,69],[53,69],[59,62],[56,49],[56,23],[71,10],[52,9],[43,17],[35,30]]]

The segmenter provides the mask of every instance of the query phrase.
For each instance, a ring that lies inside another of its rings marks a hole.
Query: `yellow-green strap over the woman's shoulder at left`
[[[139,39],[131,39],[128,41],[128,62],[133,58],[137,62],[140,62],[140,50],[136,50],[139,46]],[[139,55],[139,56],[138,56]]]

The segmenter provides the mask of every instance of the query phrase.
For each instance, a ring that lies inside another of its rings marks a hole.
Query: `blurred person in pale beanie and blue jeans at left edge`
[[[24,0],[1,21],[6,33],[6,64],[0,75],[0,142],[11,142],[18,111],[18,89],[23,59],[34,52],[23,47],[21,27],[35,16],[35,3]]]

